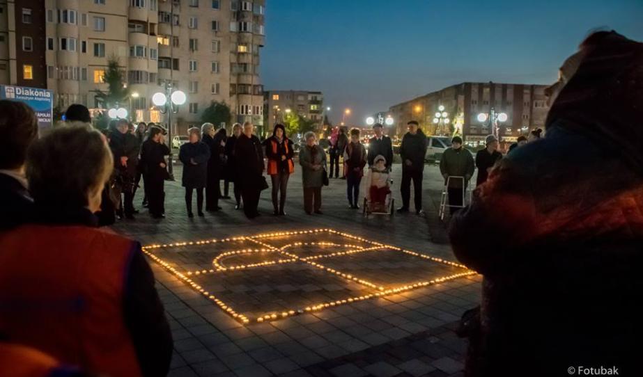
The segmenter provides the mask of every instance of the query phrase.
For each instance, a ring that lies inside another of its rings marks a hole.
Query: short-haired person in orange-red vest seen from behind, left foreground
[[[58,127],[26,166],[35,216],[0,236],[0,333],[96,374],[165,376],[171,332],[141,245],[95,227],[113,169],[104,136]]]

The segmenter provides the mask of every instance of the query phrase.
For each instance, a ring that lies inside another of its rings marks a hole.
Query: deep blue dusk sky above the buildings
[[[643,40],[643,0],[268,0],[261,74],[357,124],[464,81],[550,83],[597,28]]]

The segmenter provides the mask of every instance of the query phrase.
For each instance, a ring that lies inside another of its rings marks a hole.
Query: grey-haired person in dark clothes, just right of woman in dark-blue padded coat
[[[219,182],[223,172],[222,160],[222,141],[215,138],[215,126],[212,123],[203,123],[201,125],[201,134],[203,134],[203,143],[210,148],[210,160],[208,161],[208,177],[206,184],[206,211],[219,211]]]

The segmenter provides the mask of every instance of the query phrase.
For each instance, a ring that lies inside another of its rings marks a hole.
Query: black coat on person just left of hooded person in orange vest
[[[235,143],[237,175],[235,184],[243,190],[259,190],[263,186],[263,147],[259,138],[241,134]]]

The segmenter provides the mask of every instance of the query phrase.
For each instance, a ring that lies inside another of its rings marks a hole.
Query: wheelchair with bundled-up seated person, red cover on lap
[[[366,170],[362,179],[364,193],[362,214],[364,216],[370,214],[393,216],[395,213],[395,200],[391,191],[393,179],[390,177],[389,170],[383,166],[385,163],[386,159],[383,156],[375,157],[373,167]]]

